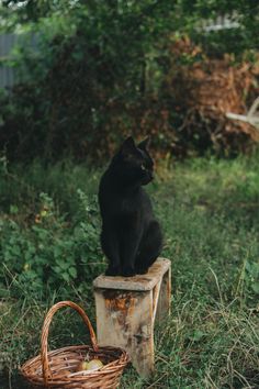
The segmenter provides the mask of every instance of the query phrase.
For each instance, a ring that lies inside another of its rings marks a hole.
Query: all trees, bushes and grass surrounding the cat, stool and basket
[[[122,388],[258,388],[259,132],[226,118],[259,95],[258,15],[246,0],[0,1],[0,38],[19,37],[0,57],[15,75],[0,88],[1,388],[23,387],[54,302],[94,323],[95,194],[128,134],[151,136],[173,291],[155,376],[130,369]],[[89,340],[65,312],[49,347],[71,342]]]

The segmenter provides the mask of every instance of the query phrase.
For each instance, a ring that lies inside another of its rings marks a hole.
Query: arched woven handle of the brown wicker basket
[[[44,378],[44,384],[47,385],[47,380],[49,377],[52,377],[52,371],[49,369],[49,364],[48,364],[48,357],[47,357],[47,340],[48,340],[48,332],[49,332],[49,325],[52,322],[52,319],[54,314],[64,307],[70,307],[75,309],[82,318],[85,324],[88,326],[90,331],[90,337],[91,337],[91,343],[94,352],[98,352],[98,343],[97,343],[97,337],[92,327],[92,324],[90,320],[88,319],[87,313],[83,311],[82,308],[80,308],[78,304],[76,304],[72,301],[60,301],[57,302],[55,305],[53,305],[49,311],[46,314],[46,318],[43,323],[43,329],[42,329],[42,338],[41,338],[41,356],[42,356],[42,365],[43,365],[43,378]]]

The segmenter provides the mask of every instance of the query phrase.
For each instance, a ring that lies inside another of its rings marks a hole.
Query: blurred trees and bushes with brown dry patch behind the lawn
[[[1,1],[3,58],[19,81],[0,95],[0,149],[98,163],[123,137],[157,154],[236,155],[257,138],[226,120],[258,95],[256,1]],[[36,46],[30,44],[34,36]]]

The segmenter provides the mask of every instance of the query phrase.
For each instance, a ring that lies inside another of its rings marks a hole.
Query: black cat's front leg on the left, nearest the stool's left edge
[[[111,226],[103,226],[101,233],[101,245],[105,256],[109,259],[109,266],[105,270],[105,275],[119,276],[121,274],[119,238],[115,231]]]

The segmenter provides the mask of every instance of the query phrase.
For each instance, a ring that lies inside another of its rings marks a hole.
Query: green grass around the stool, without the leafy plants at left
[[[259,387],[258,163],[255,154],[158,168],[149,192],[165,232],[162,255],[172,262],[171,315],[156,329],[155,375],[144,380],[128,368],[122,388]],[[15,219],[29,229],[27,214],[37,212],[38,194],[44,191],[54,199],[59,216],[72,221],[80,205],[77,189],[91,197],[99,177],[100,171],[68,163],[49,168],[35,163],[25,170],[10,167],[8,177],[0,178],[4,184],[0,185],[4,204],[0,218]],[[77,280],[66,286],[66,298],[85,307],[93,324],[94,275],[83,292]],[[18,290],[14,279],[0,300],[0,355],[4,355],[0,365],[5,376],[12,373],[10,379],[21,363],[38,353],[43,318],[64,298],[60,289],[46,291],[44,299]],[[50,346],[89,342],[80,319],[65,312],[55,318]]]

